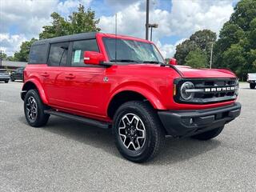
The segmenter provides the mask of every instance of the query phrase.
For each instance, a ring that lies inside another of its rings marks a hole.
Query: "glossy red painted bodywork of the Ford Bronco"
[[[152,43],[144,39],[114,34],[96,35],[100,53],[86,51],[90,64],[109,62],[102,38],[123,38]],[[85,64],[86,65],[86,64]],[[176,66],[185,78],[235,78],[229,70],[195,70]],[[157,110],[197,110],[226,106],[232,102],[207,105],[180,104],[174,102],[173,85],[180,74],[169,66],[155,64],[113,65],[109,68],[98,66],[59,67],[47,64],[27,65],[24,73],[26,82],[38,87],[42,102],[54,109],[90,118],[110,121],[107,109],[114,95],[131,90],[142,94]],[[108,81],[104,81],[107,78]]]

